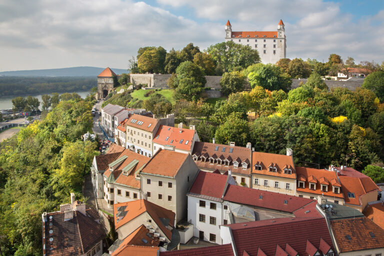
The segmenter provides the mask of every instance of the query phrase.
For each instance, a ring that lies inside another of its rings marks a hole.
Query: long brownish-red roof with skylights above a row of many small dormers
[[[215,150],[216,147],[217,150]],[[229,152],[230,150],[232,151]],[[202,169],[218,169],[220,171],[227,171],[228,169],[231,169],[233,173],[248,175],[251,171],[251,166],[249,164],[250,154],[250,148],[199,141],[194,142],[192,150],[192,156],[196,155],[198,157],[197,161],[195,161],[196,165]],[[201,155],[206,156],[206,161],[201,160]],[[216,161],[214,161],[214,163],[209,163],[209,157],[213,156],[214,158],[219,158],[221,155],[224,157],[224,159],[229,160],[229,165],[225,165],[224,163],[217,164]],[[235,160],[239,162],[238,167],[233,166],[233,161]],[[240,164],[244,160],[248,160],[246,169],[243,169],[242,165]]]

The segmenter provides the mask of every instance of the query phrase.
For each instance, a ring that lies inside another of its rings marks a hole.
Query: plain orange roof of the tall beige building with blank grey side
[[[174,177],[187,157],[191,157],[190,154],[159,149],[141,170],[141,173]]]

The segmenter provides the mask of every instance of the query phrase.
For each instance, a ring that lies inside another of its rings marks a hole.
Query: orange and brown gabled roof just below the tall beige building
[[[117,208],[120,206],[126,206],[125,208],[126,210],[125,209],[123,210],[126,213],[122,217],[117,216],[118,212],[120,212],[120,211],[117,211]],[[113,204],[115,229],[121,227],[125,223],[129,222],[130,220],[134,219],[135,217],[141,215],[144,212],[147,212],[149,214],[149,216],[153,219],[156,225],[161,229],[164,235],[170,240],[172,237],[172,232],[171,230],[168,229],[167,226],[165,226],[162,223],[160,218],[168,219],[169,220],[168,224],[173,227],[174,216],[175,216],[174,212],[171,210],[165,209],[157,204],[149,202],[145,199]]]

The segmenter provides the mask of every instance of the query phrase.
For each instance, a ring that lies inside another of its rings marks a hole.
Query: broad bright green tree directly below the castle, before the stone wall
[[[248,73],[248,80],[250,86],[261,86],[268,90],[279,90],[282,89],[287,91],[291,84],[290,76],[282,71],[278,66],[271,64],[255,64],[249,66],[244,73]]]

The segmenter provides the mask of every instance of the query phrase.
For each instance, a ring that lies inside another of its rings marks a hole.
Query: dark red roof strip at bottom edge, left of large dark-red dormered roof
[[[160,256],[233,256],[232,245],[221,244],[215,246],[172,250],[160,252]],[[244,255],[244,254],[243,254]]]

